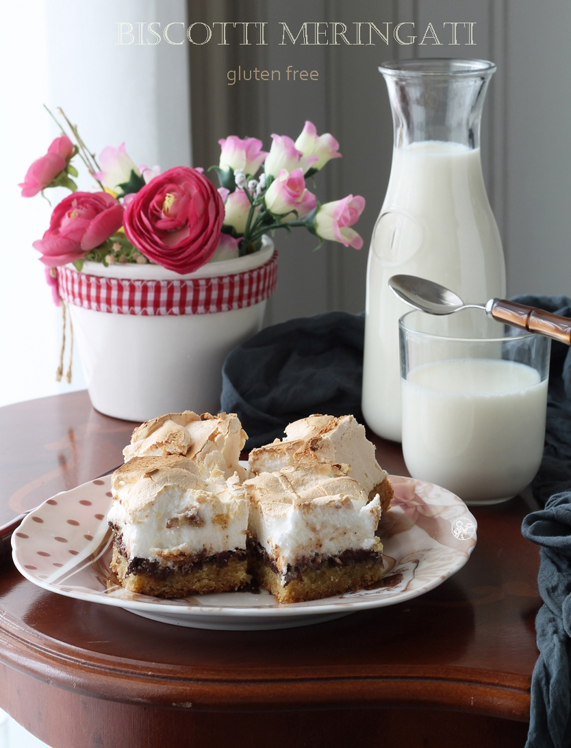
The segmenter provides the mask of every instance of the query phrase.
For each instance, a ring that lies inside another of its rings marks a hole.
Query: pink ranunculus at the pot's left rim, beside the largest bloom
[[[123,206],[107,192],[74,192],[52,212],[49,229],[34,242],[49,267],[81,260],[120,229]]]

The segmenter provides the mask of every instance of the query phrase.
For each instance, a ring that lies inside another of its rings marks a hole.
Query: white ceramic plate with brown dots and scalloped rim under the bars
[[[391,476],[392,508],[380,520],[386,573],[374,589],[278,604],[269,592],[222,592],[161,600],[129,592],[109,569],[111,477],[56,494],[12,536],[13,559],[34,584],[78,600],[117,605],[139,616],[192,628],[265,629],[319,623],[394,605],[454,574],[476,544],[476,521],[457,496],[433,483]]]

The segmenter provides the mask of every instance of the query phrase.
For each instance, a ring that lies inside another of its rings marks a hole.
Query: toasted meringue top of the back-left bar
[[[226,478],[238,473],[243,480],[246,475],[238,460],[246,439],[234,413],[167,413],[141,423],[123,455],[125,461],[132,457],[181,455],[192,459],[203,477],[212,470],[222,470]]]

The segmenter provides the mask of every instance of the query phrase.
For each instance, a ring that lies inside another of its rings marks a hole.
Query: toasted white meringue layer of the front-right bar
[[[250,499],[248,532],[282,574],[288,566],[348,549],[368,551],[380,518],[380,500],[339,465],[292,465],[244,482]]]

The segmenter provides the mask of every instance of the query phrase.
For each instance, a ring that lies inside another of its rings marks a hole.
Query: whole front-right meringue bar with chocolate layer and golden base
[[[291,465],[244,482],[250,499],[248,566],[280,603],[361,589],[383,574],[374,531],[380,498],[347,466]]]

